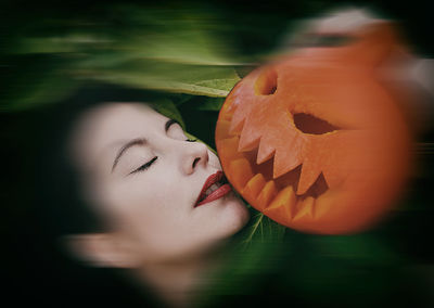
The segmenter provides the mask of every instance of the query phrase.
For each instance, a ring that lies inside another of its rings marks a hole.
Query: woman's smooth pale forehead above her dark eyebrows
[[[86,112],[73,129],[72,152],[79,164],[135,138],[164,132],[167,117],[144,103],[106,103]]]

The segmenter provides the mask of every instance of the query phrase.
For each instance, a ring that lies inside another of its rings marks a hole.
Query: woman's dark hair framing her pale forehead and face
[[[151,99],[150,99],[151,98]],[[43,112],[44,125],[39,136],[36,187],[41,219],[51,235],[106,230],[104,221],[88,206],[80,189],[80,175],[68,155],[67,143],[77,119],[89,108],[107,102],[146,102],[157,93],[113,86],[84,88],[71,99],[50,105]]]

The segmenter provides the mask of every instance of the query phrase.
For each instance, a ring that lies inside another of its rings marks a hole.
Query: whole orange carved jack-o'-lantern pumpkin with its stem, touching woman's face
[[[289,228],[365,230],[391,209],[408,175],[409,129],[378,78],[394,31],[381,23],[353,36],[349,46],[259,67],[220,111],[216,146],[228,180]]]

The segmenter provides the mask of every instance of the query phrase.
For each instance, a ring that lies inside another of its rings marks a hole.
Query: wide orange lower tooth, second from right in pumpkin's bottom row
[[[264,209],[264,214],[270,217],[279,217],[288,221],[295,213],[297,198],[292,187],[281,190],[270,205]],[[283,221],[282,221],[283,222]]]

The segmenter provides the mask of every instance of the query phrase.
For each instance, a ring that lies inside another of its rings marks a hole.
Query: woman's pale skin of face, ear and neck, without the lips
[[[233,193],[196,206],[218,157],[141,103],[106,103],[78,121],[72,158],[106,232],[68,236],[93,266],[130,269],[171,306],[186,306],[228,238],[248,220]]]

